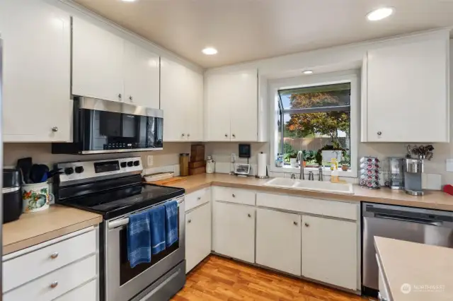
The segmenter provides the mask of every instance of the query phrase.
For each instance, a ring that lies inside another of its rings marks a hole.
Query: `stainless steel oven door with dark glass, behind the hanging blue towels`
[[[105,274],[103,279],[105,283],[105,300],[131,300],[185,259],[184,197],[177,200],[178,241],[159,254],[152,255],[151,263],[149,264],[139,264],[134,268],[130,267],[130,262],[127,260],[127,216],[105,221],[105,241],[103,246],[105,255]],[[148,209],[145,208],[144,210]],[[185,275],[185,271],[182,271],[182,273]]]

